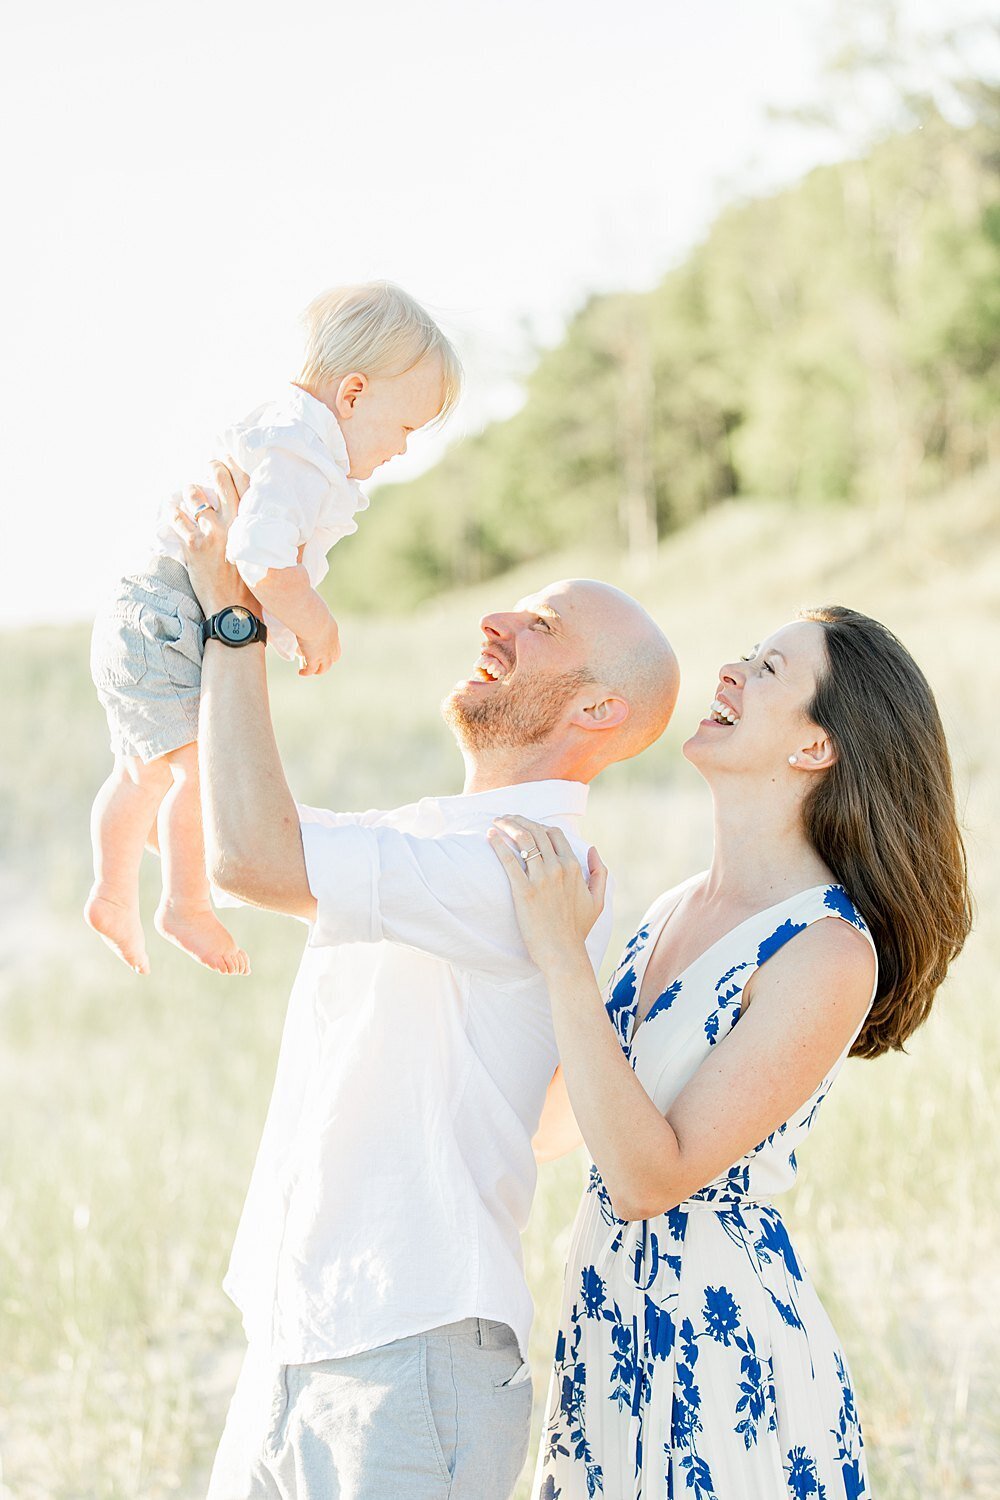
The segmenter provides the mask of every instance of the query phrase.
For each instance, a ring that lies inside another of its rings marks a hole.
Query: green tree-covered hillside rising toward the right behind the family
[[[525,404],[378,490],[330,597],[381,610],[573,546],[640,558],[730,498],[888,516],[1000,459],[1000,94],[735,204],[595,297]]]

